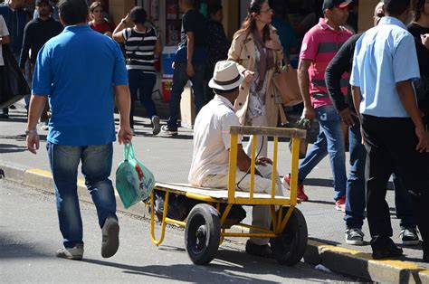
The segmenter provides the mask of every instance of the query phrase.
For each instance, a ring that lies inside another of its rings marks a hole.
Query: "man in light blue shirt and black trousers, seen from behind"
[[[390,238],[386,187],[395,173],[412,194],[429,261],[428,139],[412,81],[420,77],[415,40],[406,31],[410,0],[385,0],[386,17],[356,43],[350,84],[367,149],[367,220],[374,259],[402,255]]]

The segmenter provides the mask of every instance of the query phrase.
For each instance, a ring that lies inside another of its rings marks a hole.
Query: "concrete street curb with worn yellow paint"
[[[48,171],[35,168],[20,168],[0,162],[0,178],[19,184],[33,186],[53,194],[52,175]],[[92,202],[84,182],[78,180],[78,192],[81,201]],[[118,211],[138,217],[148,218],[144,204],[136,204],[125,209],[117,198]],[[239,229],[241,231],[241,229]],[[369,253],[348,250],[328,243],[309,240],[304,260],[310,264],[322,264],[329,270],[377,282],[389,283],[428,283],[429,270],[414,262],[402,260],[372,260]]]

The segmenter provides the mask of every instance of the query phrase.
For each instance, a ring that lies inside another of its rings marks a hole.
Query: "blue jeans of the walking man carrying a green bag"
[[[112,144],[65,146],[46,143],[51,164],[60,231],[64,247],[82,243],[81,209],[77,193],[78,166],[97,208],[100,228],[107,217],[116,216],[116,199],[109,179]]]

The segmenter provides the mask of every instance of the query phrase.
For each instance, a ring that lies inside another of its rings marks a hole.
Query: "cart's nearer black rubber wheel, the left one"
[[[221,239],[219,213],[209,204],[196,204],[187,216],[185,246],[195,264],[208,264],[215,258]]]

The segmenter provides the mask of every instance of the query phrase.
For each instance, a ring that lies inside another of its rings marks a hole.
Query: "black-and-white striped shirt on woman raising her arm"
[[[146,33],[127,28],[122,32],[125,39],[127,70],[141,70],[155,74],[155,43],[159,34],[153,28]]]

